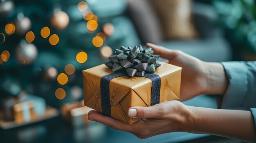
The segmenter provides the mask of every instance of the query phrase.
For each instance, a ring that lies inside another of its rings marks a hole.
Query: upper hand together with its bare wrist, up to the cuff
[[[147,43],[155,55],[168,59],[169,64],[182,67],[180,101],[201,94],[223,95],[227,88],[227,77],[220,63],[203,62],[182,51],[170,50]]]

